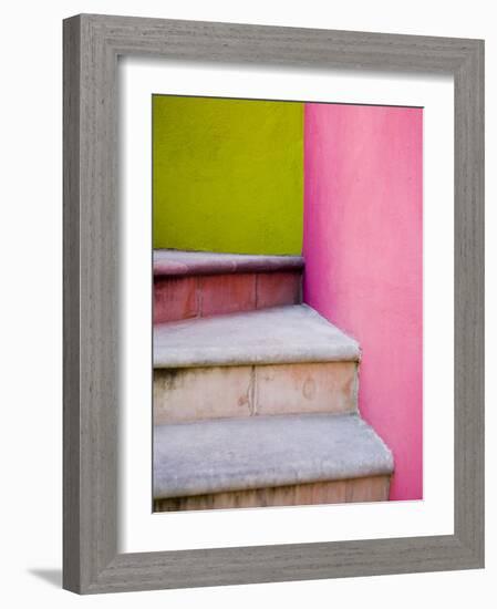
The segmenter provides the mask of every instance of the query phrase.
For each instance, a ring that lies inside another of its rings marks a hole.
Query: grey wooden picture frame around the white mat
[[[484,42],[92,14],[63,28],[64,588],[91,593],[483,567]],[[454,535],[117,553],[120,55],[454,76]]]

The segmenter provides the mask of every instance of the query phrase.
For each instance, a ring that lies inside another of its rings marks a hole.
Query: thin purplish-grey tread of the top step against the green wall
[[[301,270],[301,256],[251,256],[213,251],[154,250],[154,276],[224,275]]]

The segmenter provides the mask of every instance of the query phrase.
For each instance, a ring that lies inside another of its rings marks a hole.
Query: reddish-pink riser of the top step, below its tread
[[[300,271],[154,278],[154,323],[299,304]]]

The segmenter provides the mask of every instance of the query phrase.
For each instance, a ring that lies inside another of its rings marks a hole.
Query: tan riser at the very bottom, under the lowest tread
[[[389,492],[390,476],[369,476],[345,481],[155,499],[154,512],[386,502],[389,500]]]

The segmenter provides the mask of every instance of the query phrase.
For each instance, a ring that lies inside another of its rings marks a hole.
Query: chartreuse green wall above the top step
[[[300,254],[303,104],[152,103],[154,247]]]

